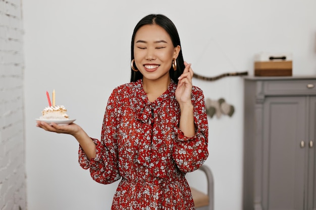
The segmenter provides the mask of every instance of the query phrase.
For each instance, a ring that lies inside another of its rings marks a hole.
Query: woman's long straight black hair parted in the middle
[[[167,31],[167,33],[169,34],[173,46],[180,46],[180,52],[179,55],[177,57],[177,69],[176,71],[173,69],[173,66],[171,65],[170,70],[169,70],[169,74],[170,74],[170,78],[175,82],[178,83],[178,78],[180,77],[180,75],[183,73],[183,70],[185,68],[184,66],[184,60],[183,60],[183,55],[182,55],[182,47],[180,44],[180,37],[178,34],[178,30],[176,28],[176,26],[174,25],[174,23],[167,18],[164,15],[160,15],[160,14],[150,14],[145,16],[144,18],[142,18],[137,25],[134,28],[134,32],[133,32],[133,36],[132,36],[132,43],[131,43],[131,62],[134,59],[134,41],[135,41],[135,34],[138,31],[138,29],[140,29],[142,26],[144,25],[158,25],[160,27],[162,27],[163,29],[165,29]],[[135,72],[133,71],[133,69],[131,68],[131,82],[136,82],[139,79],[142,79],[143,75],[138,71]]]

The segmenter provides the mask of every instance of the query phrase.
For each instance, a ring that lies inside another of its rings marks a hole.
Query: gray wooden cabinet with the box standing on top
[[[244,80],[243,209],[316,209],[316,77]]]

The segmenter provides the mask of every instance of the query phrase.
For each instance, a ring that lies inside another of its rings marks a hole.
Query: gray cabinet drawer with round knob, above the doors
[[[265,81],[266,95],[316,95],[316,80]]]

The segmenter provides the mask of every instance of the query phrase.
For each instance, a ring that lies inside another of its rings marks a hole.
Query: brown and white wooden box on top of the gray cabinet
[[[256,55],[254,76],[292,76],[292,55],[290,53]]]

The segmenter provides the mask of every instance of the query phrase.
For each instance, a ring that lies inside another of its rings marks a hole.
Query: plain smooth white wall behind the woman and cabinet
[[[292,52],[293,75],[316,74],[316,2],[81,1],[23,2],[25,26],[26,168],[29,209],[110,209],[118,183],[101,185],[77,163],[71,136],[35,127],[56,90],[86,132],[99,138],[108,97],[130,79],[130,41],[149,13],[167,15],[178,28],[184,58],[204,76],[248,71],[254,54]],[[206,98],[224,97],[233,117],[209,119],[209,158],[215,209],[241,209],[243,80],[194,80]],[[190,176],[194,184],[199,184]]]

